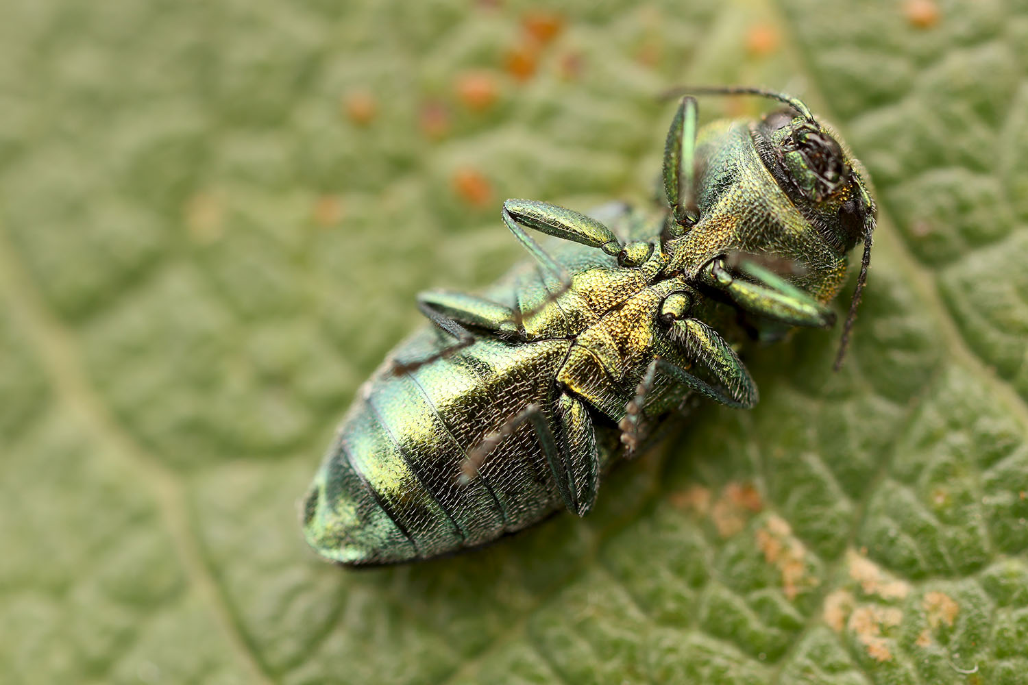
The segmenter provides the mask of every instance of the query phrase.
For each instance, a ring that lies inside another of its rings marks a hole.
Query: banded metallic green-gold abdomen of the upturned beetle
[[[425,330],[393,356],[417,359],[446,344]],[[530,424],[488,455],[478,478],[462,484],[460,475],[468,451],[526,406],[549,417],[568,346],[483,338],[400,374],[387,361],[343,419],[307,495],[308,541],[342,563],[386,564],[481,544],[548,516],[559,496]]]

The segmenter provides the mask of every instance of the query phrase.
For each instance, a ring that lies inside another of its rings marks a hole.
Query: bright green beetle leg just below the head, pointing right
[[[738,269],[757,282],[733,276],[724,258],[711,261],[698,278],[726,293],[742,309],[788,326],[831,328],[835,324],[834,311],[771,270],[745,260]]]

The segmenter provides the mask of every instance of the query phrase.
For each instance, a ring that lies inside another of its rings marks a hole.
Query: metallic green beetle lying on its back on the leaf
[[[796,98],[690,92],[785,108],[698,129],[696,100],[684,97],[657,216],[504,202],[534,262],[481,296],[418,296],[433,326],[361,387],[303,502],[319,554],[409,562],[494,540],[561,505],[584,516],[607,466],[691,396],[752,407],[757,386],[736,348],[833,326],[828,304],[862,240],[841,361],[875,226],[866,172]],[[529,230],[564,242],[546,251]]]

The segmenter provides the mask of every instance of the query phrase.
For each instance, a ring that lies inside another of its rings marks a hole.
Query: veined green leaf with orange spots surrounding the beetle
[[[681,83],[870,168],[844,371],[756,351],[759,408],[585,521],[320,562],[296,503],[414,293],[522,259],[506,197],[647,201]],[[7,0],[0,681],[1024,683],[1026,258],[1023,0]]]

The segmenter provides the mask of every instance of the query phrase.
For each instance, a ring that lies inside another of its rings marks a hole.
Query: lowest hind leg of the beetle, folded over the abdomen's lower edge
[[[540,406],[528,405],[468,451],[468,456],[461,465],[461,483],[467,484],[476,478],[488,456],[518,426],[527,421],[531,422],[536,430],[564,505],[580,517],[588,513],[596,501],[599,487],[596,433],[588,411],[580,399],[563,393],[557,398],[556,409],[561,427],[559,443],[554,439]]]

